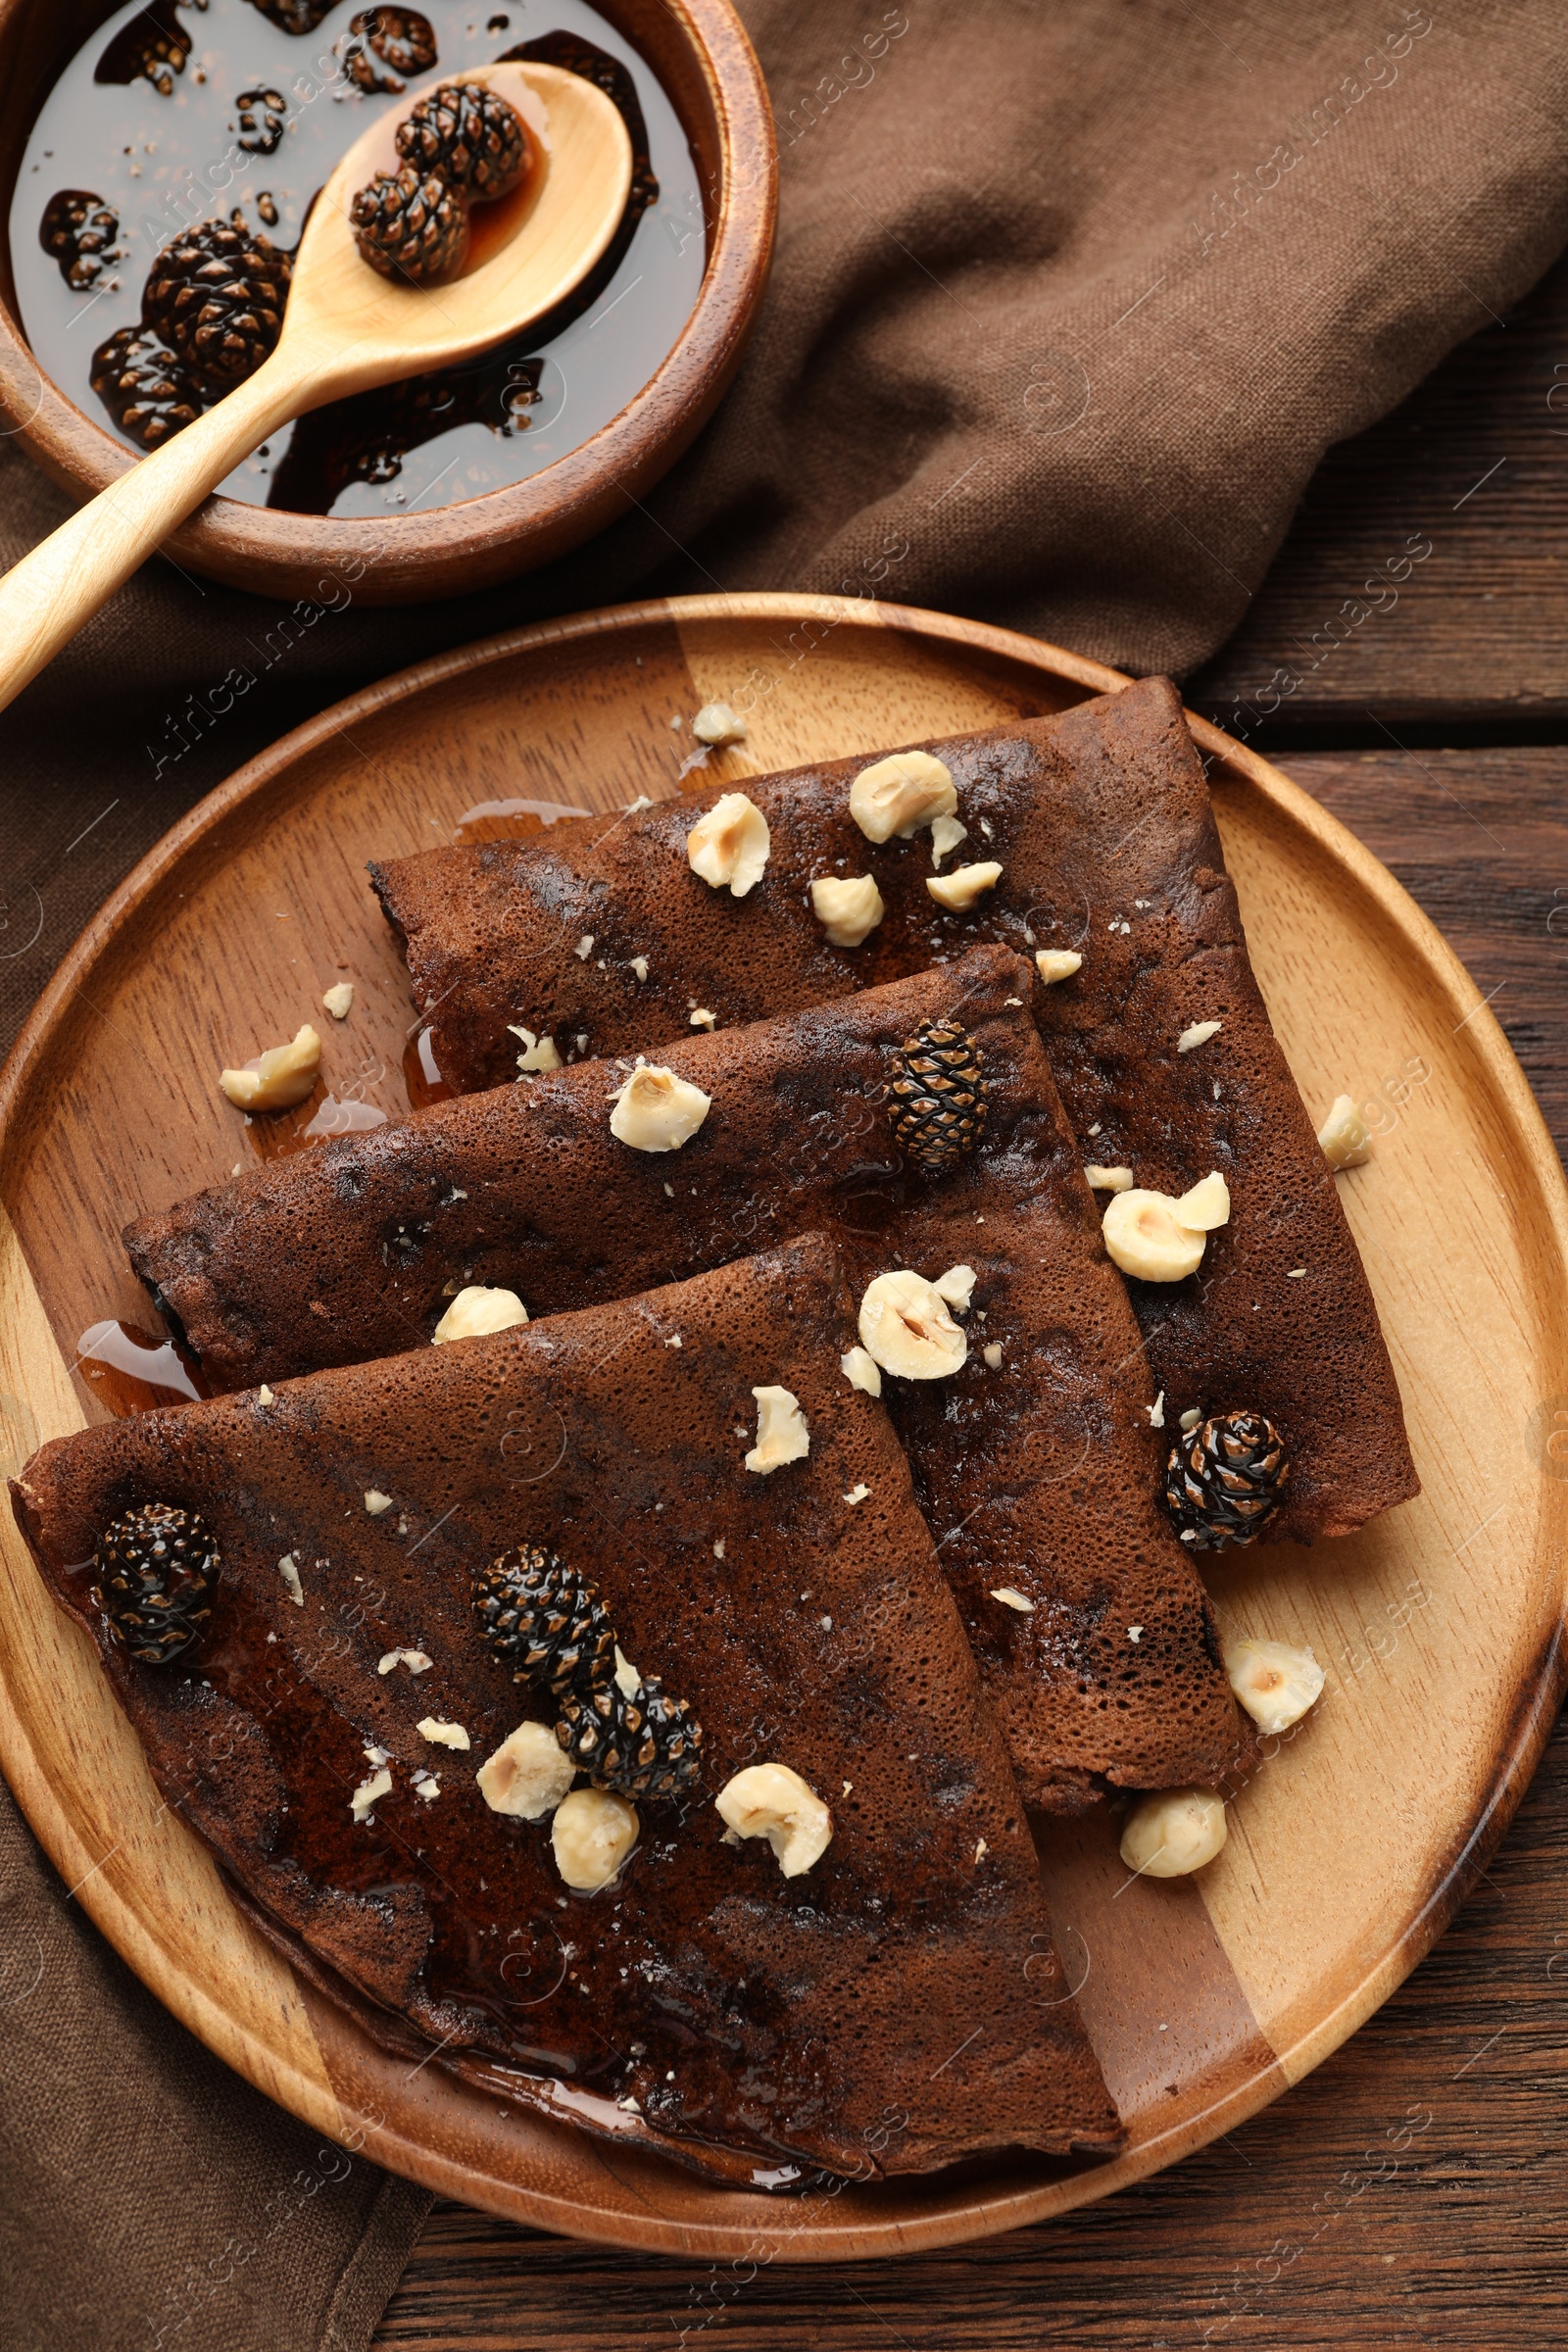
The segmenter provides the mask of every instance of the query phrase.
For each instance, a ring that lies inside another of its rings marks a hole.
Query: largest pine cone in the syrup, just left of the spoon
[[[277,348],[289,256],[235,221],[197,221],[158,254],[141,325],[221,397]]]

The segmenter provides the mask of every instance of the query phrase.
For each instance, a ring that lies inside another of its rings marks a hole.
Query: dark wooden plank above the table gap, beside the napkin
[[[1568,729],[1568,261],[1331,449],[1187,699],[1260,750]],[[1425,548],[1425,553],[1422,553]],[[1373,583],[1368,588],[1368,581]]]

